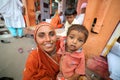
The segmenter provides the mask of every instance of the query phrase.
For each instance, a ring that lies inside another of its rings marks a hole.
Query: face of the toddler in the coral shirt
[[[74,52],[82,47],[85,42],[85,35],[82,32],[72,30],[67,36],[67,51]]]

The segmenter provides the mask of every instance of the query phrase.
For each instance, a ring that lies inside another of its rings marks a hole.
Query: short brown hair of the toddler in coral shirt
[[[85,35],[85,42],[88,38],[88,35],[89,35],[89,32],[88,30],[85,28],[85,26],[83,25],[79,25],[79,24],[73,24],[71,27],[68,28],[68,31],[67,31],[67,36],[70,34],[70,32],[72,30],[76,30],[76,31],[79,31],[79,32],[82,32],[84,35]]]

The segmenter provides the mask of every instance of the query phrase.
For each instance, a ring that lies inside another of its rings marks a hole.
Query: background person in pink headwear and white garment
[[[80,25],[82,25],[83,21],[84,21],[86,6],[87,6],[87,3],[83,3],[81,5],[81,8],[80,8],[81,9],[81,13],[76,16],[76,19],[78,20]]]

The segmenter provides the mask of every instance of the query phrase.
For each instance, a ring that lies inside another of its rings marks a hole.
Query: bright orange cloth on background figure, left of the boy
[[[61,24],[61,19],[59,14],[56,14],[50,22],[55,28],[61,28],[63,26],[63,24]]]

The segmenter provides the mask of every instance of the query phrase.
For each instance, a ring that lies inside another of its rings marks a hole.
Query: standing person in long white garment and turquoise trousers
[[[22,10],[24,9],[20,0],[0,0],[0,13],[5,20],[6,27],[15,38],[23,37],[25,21]]]

